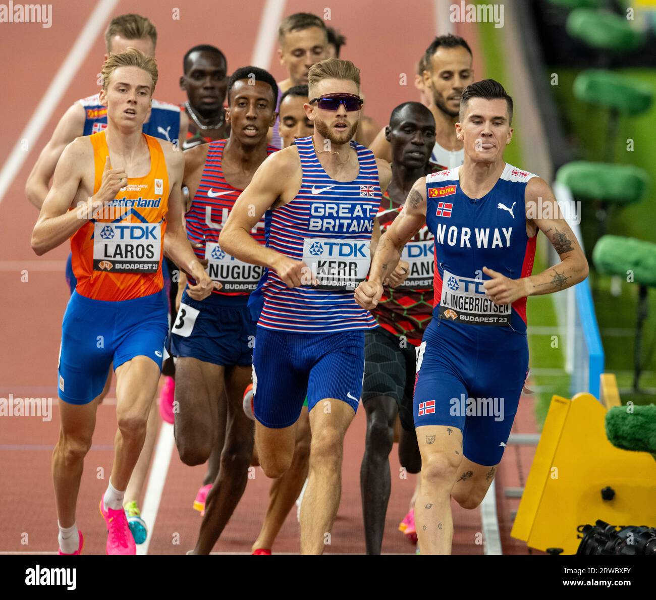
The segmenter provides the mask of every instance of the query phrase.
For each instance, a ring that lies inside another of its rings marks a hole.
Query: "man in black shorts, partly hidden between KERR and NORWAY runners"
[[[426,174],[426,161],[435,145],[435,119],[423,104],[405,102],[392,111],[385,132],[392,147],[394,169],[378,213],[383,232],[400,213],[413,184]],[[367,437],[360,487],[368,554],[380,554],[382,545],[391,487],[389,455],[397,415],[401,417],[401,465],[411,473],[419,473],[421,467],[412,396],[415,350],[432,317],[432,238],[423,226],[405,246],[397,270],[401,268],[407,279],[398,287],[385,287],[373,310],[380,327],[365,333],[362,403],[367,412]]]

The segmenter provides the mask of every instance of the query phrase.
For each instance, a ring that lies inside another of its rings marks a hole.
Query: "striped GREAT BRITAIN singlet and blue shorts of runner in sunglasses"
[[[369,272],[381,193],[373,153],[350,144],[358,153],[358,176],[339,182],[321,166],[311,137],[296,140],[300,190],[292,201],[265,214],[266,245],[302,260],[318,279],[316,286],[290,289],[268,270],[262,284],[253,391],[255,416],[267,427],[293,424],[306,390],[310,410],[325,398],[358,407],[364,331],[377,324],[356,304],[354,289]],[[285,386],[279,385],[280,373],[285,373]]]

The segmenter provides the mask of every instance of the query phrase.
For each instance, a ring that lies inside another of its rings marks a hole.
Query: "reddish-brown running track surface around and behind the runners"
[[[380,125],[386,123],[394,106],[416,99],[412,87],[415,62],[436,31],[445,33],[451,26],[444,20],[438,26],[436,14],[440,0],[416,0],[411,14],[403,12],[396,0],[331,0],[330,3],[252,0],[247,12],[243,4],[227,1],[178,0],[173,4],[180,9],[179,20],[173,18],[171,6],[155,0],[142,0],[138,5],[125,0],[85,0],[75,5],[55,0],[51,28],[42,28],[40,24],[0,24],[0,55],[7,57],[3,64],[6,85],[0,97],[0,271],[3,277],[0,397],[13,394],[54,399],[48,422],[38,416],[0,418],[0,513],[8,517],[0,523],[1,552],[56,550],[50,457],[58,435],[56,367],[60,323],[68,300],[63,272],[68,247],[62,246],[40,258],[33,254],[30,233],[37,213],[24,195],[24,184],[60,115],[72,102],[96,91],[96,73],[104,53],[102,32],[108,20],[136,10],[154,22],[159,33],[160,69],[155,96],[180,102],[184,99],[177,84],[182,56],[192,45],[217,45],[226,53],[231,71],[256,64],[269,68],[280,81],[284,72],[275,54],[279,19],[299,11],[323,15],[325,6],[329,5],[329,24],[348,38],[342,58],[354,60],[361,69],[367,113]],[[79,51],[71,52],[82,31],[86,37],[79,40]],[[482,49],[473,26],[457,24],[453,31],[466,37],[474,56],[480,56]],[[476,62],[475,69],[482,79],[485,73],[480,62]],[[400,85],[401,73],[407,73],[407,87]],[[58,80],[54,81],[56,74]],[[49,108],[45,109],[39,105],[47,93],[49,102],[44,106]],[[28,124],[31,124],[31,135],[26,136]],[[116,428],[112,397],[113,390],[98,409],[94,446],[85,461],[79,494],[77,524],[85,533],[85,553],[104,553],[106,534],[97,505],[106,480],[99,479],[98,473],[102,469],[108,474],[112,465]],[[531,401],[524,399],[514,431],[535,431],[532,414]],[[346,436],[342,502],[328,550],[333,553],[364,551],[359,499],[364,431],[364,414],[360,409]],[[170,441],[169,435],[172,435],[170,429],[163,431],[164,442]],[[510,510],[516,508],[518,501],[505,500],[501,490],[504,486],[520,484],[520,477],[527,475],[532,453],[532,449],[510,447],[497,476],[504,553],[526,552],[525,544],[509,537]],[[175,450],[170,455],[168,470],[150,474],[154,483],[161,481],[163,485],[150,536],[150,553],[182,554],[193,548],[200,522],[191,505],[205,467],[184,466]],[[169,453],[159,453],[164,464],[168,458]],[[408,479],[396,476],[399,473],[396,447],[390,464],[392,498],[383,551],[409,553],[413,547],[396,527],[407,511],[415,479],[412,475]],[[258,469],[215,551],[250,551],[261,524],[265,508],[262,498],[267,496],[268,485],[264,473]],[[475,544],[476,534],[482,530],[480,509],[465,511],[454,503],[454,521],[454,553],[483,553],[483,546]],[[149,521],[148,525],[152,523]],[[298,551],[298,524],[294,514],[287,519],[275,549]]]

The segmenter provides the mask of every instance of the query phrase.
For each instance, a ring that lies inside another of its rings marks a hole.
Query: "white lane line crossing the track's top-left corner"
[[[30,121],[28,121],[28,125],[18,136],[9,158],[0,170],[0,203],[23,163],[30,155],[32,148],[39,142],[41,130],[52,117],[52,109],[59,105],[64,92],[68,90],[73,77],[78,74],[81,64],[89,55],[89,48],[93,47],[98,33],[104,27],[118,2],[119,0],[98,0],[96,8],[89,16],[62,66],[52,79],[50,86],[41,98],[41,102],[39,102],[39,106],[37,106]],[[27,150],[23,150],[24,142],[27,142]]]

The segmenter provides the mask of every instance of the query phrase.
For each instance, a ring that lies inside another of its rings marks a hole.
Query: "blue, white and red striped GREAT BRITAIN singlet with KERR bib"
[[[289,289],[268,270],[260,327],[323,334],[377,326],[371,313],[356,304],[354,289],[369,271],[369,243],[381,198],[379,174],[373,152],[350,144],[358,153],[358,176],[339,182],[319,163],[311,137],[296,140],[300,190],[286,205],[266,212],[266,244],[303,260],[319,285]]]

